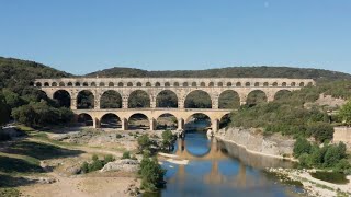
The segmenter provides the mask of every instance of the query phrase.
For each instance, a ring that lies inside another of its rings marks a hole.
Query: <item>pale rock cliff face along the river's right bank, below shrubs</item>
[[[227,128],[217,132],[219,139],[237,143],[248,151],[273,157],[292,157],[295,140],[280,134],[263,136],[259,129]]]

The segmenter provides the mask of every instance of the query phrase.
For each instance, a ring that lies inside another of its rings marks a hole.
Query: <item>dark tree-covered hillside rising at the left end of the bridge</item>
[[[35,61],[0,57],[0,89],[10,88],[21,93],[23,88],[29,86],[34,79],[71,76]]]

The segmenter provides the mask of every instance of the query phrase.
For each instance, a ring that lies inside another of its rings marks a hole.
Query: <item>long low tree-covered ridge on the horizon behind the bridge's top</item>
[[[343,72],[310,68],[290,67],[227,67],[207,70],[147,71],[114,67],[87,74],[87,77],[150,77],[150,78],[306,78],[319,81],[351,79]]]

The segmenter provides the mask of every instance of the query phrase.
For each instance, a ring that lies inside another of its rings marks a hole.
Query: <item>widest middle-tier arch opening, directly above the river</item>
[[[194,90],[184,96],[185,108],[212,108],[211,94],[203,90]]]

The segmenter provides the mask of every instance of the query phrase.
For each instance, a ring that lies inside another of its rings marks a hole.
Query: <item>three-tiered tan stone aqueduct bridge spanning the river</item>
[[[93,119],[93,127],[99,127],[105,114],[115,114],[122,121],[122,129],[127,129],[128,119],[134,114],[144,114],[150,121],[150,129],[156,128],[156,120],[163,114],[171,114],[178,119],[178,128],[184,126],[190,116],[202,113],[212,121],[214,131],[218,130],[218,123],[230,109],[218,108],[218,100],[224,91],[231,90],[238,93],[240,104],[246,104],[248,94],[260,90],[265,93],[268,102],[274,100],[276,92],[282,90],[294,91],[302,86],[315,85],[312,79],[285,78],[61,78],[36,79],[34,86],[44,91],[48,97],[54,99],[55,92],[65,90],[71,100],[70,108],[75,114],[88,114]],[[116,91],[122,97],[122,108],[101,109],[100,100],[105,91]],[[132,92],[141,90],[150,97],[150,108],[128,108],[128,97]],[[169,90],[178,97],[178,108],[156,107],[157,95]],[[212,108],[184,108],[186,95],[201,90],[208,93]],[[77,96],[81,91],[90,91],[94,96],[94,108],[77,109]]]

